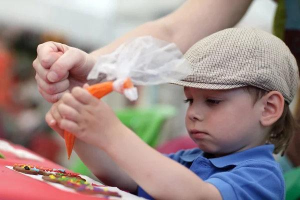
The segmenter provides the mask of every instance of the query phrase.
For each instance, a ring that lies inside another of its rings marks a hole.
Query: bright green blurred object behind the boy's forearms
[[[115,110],[120,121],[135,132],[148,145],[155,147],[159,142],[159,133],[163,123],[176,114],[176,108],[170,105],[156,105],[149,108],[124,108]],[[91,172],[78,158],[74,161],[72,171],[82,175]]]

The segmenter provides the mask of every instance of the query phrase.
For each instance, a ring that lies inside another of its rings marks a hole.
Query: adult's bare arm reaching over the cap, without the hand
[[[155,21],[144,23],[90,54],[97,57],[110,53],[130,37],[143,35],[152,35],[174,42],[185,53],[201,38],[234,26],[243,16],[251,1],[188,0],[172,13]]]

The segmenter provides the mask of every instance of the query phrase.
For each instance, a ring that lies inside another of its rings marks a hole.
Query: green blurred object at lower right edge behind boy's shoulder
[[[285,199],[300,199],[300,167],[294,168],[284,173],[285,180]]]

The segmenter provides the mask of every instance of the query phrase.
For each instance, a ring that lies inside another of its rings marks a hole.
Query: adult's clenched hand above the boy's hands
[[[48,41],[37,46],[32,65],[39,93],[51,103],[74,86],[82,86],[95,63],[90,54],[65,44]]]

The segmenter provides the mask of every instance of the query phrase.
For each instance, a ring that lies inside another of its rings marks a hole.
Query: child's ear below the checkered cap
[[[263,126],[269,126],[275,123],[283,112],[284,98],[278,91],[270,91],[261,99],[263,111],[260,117],[260,123]]]

